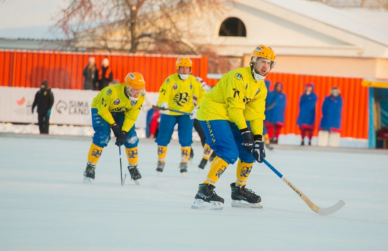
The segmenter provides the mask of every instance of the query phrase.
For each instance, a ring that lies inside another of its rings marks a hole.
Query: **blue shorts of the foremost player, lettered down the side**
[[[237,125],[228,120],[198,120],[206,136],[206,143],[216,155],[228,164],[234,164],[237,158],[245,163],[255,162],[252,153],[242,146],[242,136]]]

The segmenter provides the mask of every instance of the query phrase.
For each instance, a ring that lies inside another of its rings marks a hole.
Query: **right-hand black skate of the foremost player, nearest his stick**
[[[234,207],[245,207],[245,208],[263,208],[263,205],[260,203],[262,198],[255,194],[251,189],[245,188],[245,185],[236,186],[236,183],[230,184],[232,189],[232,206]],[[241,203],[241,201],[246,201],[247,203]]]

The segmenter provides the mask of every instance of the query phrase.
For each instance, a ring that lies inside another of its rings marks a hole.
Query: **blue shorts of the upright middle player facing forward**
[[[175,124],[178,123],[178,137],[181,146],[191,146],[193,143],[194,120],[189,115],[167,115],[162,114],[159,123],[159,133],[155,142],[158,146],[167,146],[171,141]]]

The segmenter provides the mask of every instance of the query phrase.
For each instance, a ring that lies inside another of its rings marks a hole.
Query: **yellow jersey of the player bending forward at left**
[[[137,101],[132,101],[124,91],[125,84],[114,84],[103,88],[92,101],[92,108],[97,108],[98,114],[110,125],[115,123],[111,112],[123,112],[125,115],[122,130],[128,132],[137,120],[145,100],[145,93],[139,95]]]

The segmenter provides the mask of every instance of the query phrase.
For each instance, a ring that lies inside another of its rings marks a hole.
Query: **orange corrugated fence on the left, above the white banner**
[[[88,58],[95,57],[97,68],[107,57],[113,79],[120,83],[128,72],[143,74],[147,91],[159,91],[170,74],[176,72],[177,55],[137,55],[125,53],[78,53],[54,51],[0,50],[0,86],[38,87],[44,79],[54,88],[83,89],[82,71]],[[206,56],[189,56],[192,72],[207,81]]]

